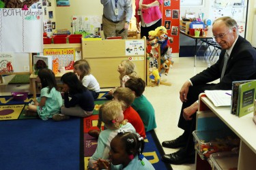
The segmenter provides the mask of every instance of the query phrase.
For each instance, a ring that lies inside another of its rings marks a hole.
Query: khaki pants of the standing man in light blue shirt
[[[103,26],[105,39],[107,37],[117,37],[117,36],[122,36],[122,39],[127,39],[128,29],[125,29],[120,35],[118,34],[119,31],[124,29],[125,23],[126,23],[126,20],[122,20],[120,22],[112,22],[111,20],[106,19],[104,16],[102,16],[102,26]]]

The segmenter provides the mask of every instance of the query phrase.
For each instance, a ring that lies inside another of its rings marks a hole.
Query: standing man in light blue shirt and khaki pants
[[[102,26],[105,39],[117,36],[127,39],[132,18],[132,0],[100,0],[100,3],[103,5]]]

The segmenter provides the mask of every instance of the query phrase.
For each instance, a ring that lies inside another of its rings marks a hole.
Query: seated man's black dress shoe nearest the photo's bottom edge
[[[193,164],[195,163],[195,152],[184,154],[179,150],[173,154],[164,154],[162,155],[162,161],[173,165]]]

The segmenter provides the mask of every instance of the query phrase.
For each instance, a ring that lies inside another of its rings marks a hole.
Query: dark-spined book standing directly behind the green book
[[[231,114],[236,115],[236,111],[238,109],[238,92],[240,84],[244,84],[246,82],[251,82],[253,80],[242,80],[242,81],[235,81],[232,83],[232,96],[231,96]]]

